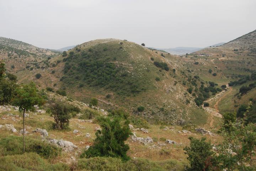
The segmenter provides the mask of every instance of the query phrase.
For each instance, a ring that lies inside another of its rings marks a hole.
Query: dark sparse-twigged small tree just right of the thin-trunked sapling
[[[54,118],[54,129],[62,130],[69,126],[69,119],[71,112],[69,105],[57,102],[55,100],[50,101],[50,115]]]

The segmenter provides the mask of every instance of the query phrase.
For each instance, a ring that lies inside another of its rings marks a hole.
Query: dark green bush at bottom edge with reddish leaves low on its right
[[[190,162],[188,170],[217,170],[216,156],[212,151],[213,145],[210,142],[206,142],[205,137],[201,138],[201,140],[193,137],[188,139],[190,139],[190,147],[184,148],[185,154],[188,155],[187,159]]]

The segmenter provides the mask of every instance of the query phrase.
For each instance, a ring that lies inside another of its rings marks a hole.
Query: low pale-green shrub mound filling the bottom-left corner
[[[68,171],[64,163],[50,164],[36,153],[7,155],[0,158],[0,170],[8,171]]]

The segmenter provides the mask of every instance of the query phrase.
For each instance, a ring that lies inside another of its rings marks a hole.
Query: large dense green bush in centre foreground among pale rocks
[[[128,126],[129,121],[121,121],[120,117],[101,117],[98,118],[102,130],[98,130],[95,135],[94,145],[81,154],[81,158],[91,158],[96,156],[110,156],[121,158],[126,161],[129,146],[124,143],[129,135],[132,134]]]

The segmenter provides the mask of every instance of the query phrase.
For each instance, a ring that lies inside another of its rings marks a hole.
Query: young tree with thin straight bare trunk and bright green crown
[[[44,99],[37,92],[35,83],[23,84],[16,88],[15,98],[12,101],[14,106],[18,106],[19,110],[23,111],[23,153],[25,152],[25,111],[33,110],[34,105],[40,106],[44,103]]]

